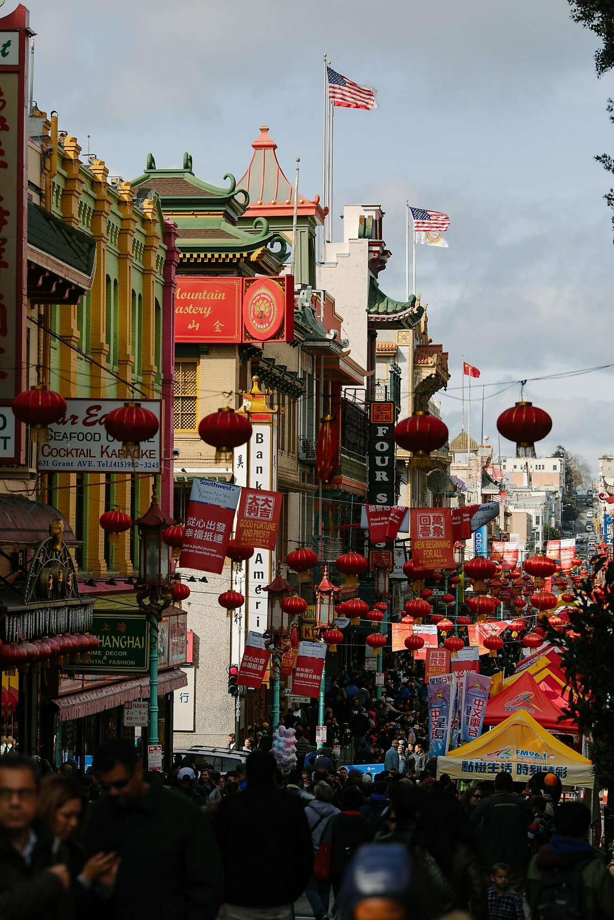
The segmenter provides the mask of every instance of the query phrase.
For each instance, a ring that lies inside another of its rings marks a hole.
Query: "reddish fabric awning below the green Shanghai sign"
[[[180,668],[162,671],[158,675],[158,695],[172,693],[188,684],[188,677]],[[58,719],[68,722],[71,719],[82,719],[83,716],[93,716],[96,712],[104,712],[122,706],[133,699],[149,698],[149,676],[133,677],[129,681],[120,681],[118,684],[107,684],[104,687],[92,687],[83,693],[72,693],[67,696],[58,696],[52,703],[58,707]]]

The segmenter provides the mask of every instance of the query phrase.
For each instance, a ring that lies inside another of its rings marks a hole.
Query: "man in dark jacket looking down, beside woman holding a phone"
[[[87,856],[103,850],[121,859],[107,914],[213,920],[222,900],[222,863],[204,812],[179,792],[145,783],[130,742],[102,744],[93,765],[105,794],[89,813]]]

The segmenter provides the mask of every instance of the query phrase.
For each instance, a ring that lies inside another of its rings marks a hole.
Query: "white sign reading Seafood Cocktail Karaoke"
[[[39,470],[54,473],[159,473],[161,470],[161,425],[151,441],[139,450],[123,455],[122,443],[113,440],[104,427],[107,415],[123,406],[123,399],[66,399],[63,419],[49,426],[49,443],[39,448]],[[143,408],[161,421],[159,399],[139,400]]]

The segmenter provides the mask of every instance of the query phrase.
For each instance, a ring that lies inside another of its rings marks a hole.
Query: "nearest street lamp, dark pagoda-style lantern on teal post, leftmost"
[[[139,575],[136,603],[149,620],[149,730],[148,743],[157,744],[157,625],[171,604],[169,549],[162,539],[166,528],[175,523],[157,503],[156,480],[149,508],[136,524],[139,529]]]

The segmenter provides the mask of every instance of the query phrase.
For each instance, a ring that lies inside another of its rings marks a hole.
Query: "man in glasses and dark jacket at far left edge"
[[[68,868],[56,865],[53,838],[36,822],[34,765],[26,757],[0,759],[0,917],[60,920],[72,915]]]

